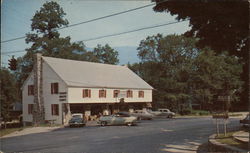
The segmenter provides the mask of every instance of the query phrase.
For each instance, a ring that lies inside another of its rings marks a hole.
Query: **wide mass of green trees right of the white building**
[[[181,110],[198,103],[208,109],[221,90],[239,90],[241,64],[235,56],[196,47],[183,35],[147,37],[138,47],[141,63],[130,68],[151,84],[157,105]]]

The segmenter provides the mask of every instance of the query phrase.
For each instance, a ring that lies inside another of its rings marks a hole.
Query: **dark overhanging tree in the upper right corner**
[[[241,79],[245,81],[241,92],[242,108],[247,108],[249,95],[249,2],[155,0],[156,12],[170,12],[177,20],[189,19],[191,29],[185,36],[198,38],[197,46],[210,47],[216,54],[225,50],[236,55],[243,64]]]

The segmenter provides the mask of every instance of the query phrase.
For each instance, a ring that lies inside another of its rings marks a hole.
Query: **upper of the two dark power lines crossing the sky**
[[[128,13],[128,12],[136,11],[136,10],[143,9],[143,8],[146,8],[146,7],[149,7],[149,6],[153,6],[153,5],[155,5],[155,4],[148,4],[148,5],[140,6],[140,7],[133,8],[133,9],[130,9],[130,10],[127,10],[127,11],[122,11],[122,12],[110,14],[110,15],[107,15],[107,16],[102,16],[102,17],[98,17],[98,18],[95,18],[95,19],[91,19],[91,20],[87,20],[87,21],[83,21],[83,22],[71,24],[69,26],[58,28],[57,30],[66,29],[66,28],[78,26],[78,25],[81,25],[81,24],[86,24],[86,23],[89,23],[89,22],[93,22],[93,21],[97,21],[97,20],[109,18],[109,17],[112,17],[112,16],[120,15],[120,14],[125,14],[125,13]],[[38,33],[38,34],[41,34],[41,33]],[[9,39],[9,40],[4,40],[4,41],[1,41],[1,43],[6,43],[6,42],[15,41],[15,40],[24,39],[24,38],[26,38],[26,36],[17,37],[17,38],[13,38],[13,39]]]

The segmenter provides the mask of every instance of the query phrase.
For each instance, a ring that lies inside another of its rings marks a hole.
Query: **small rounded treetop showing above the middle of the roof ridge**
[[[118,52],[114,49],[112,49],[108,44],[105,46],[101,46],[100,44],[97,45],[97,47],[93,50],[94,56],[96,56],[96,59],[100,63],[105,64],[118,64]]]

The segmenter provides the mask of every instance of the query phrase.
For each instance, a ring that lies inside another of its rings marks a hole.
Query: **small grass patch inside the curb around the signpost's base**
[[[220,143],[223,144],[228,144],[237,148],[241,148],[241,149],[248,149],[248,144],[244,144],[244,143],[240,143],[236,140],[233,139],[233,134],[235,132],[228,132],[227,136],[224,136],[224,134],[219,134],[219,136],[216,137],[216,140]]]

